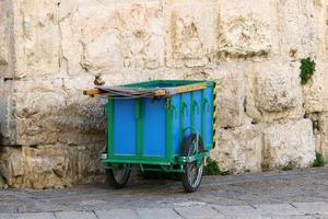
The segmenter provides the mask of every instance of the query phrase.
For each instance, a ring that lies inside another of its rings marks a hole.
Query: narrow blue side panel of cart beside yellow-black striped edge
[[[204,119],[206,119],[206,131],[204,131],[204,148],[212,149],[213,145],[213,90],[212,88],[208,88],[204,90],[206,100],[208,104],[204,107]]]

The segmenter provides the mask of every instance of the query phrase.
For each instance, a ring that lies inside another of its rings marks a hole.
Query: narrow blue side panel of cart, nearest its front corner
[[[172,141],[173,141],[173,154],[179,154],[180,153],[180,116],[179,116],[179,108],[180,108],[180,96],[174,95],[171,100],[172,104]]]

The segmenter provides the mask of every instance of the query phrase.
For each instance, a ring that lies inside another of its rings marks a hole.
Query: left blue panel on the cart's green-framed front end
[[[114,101],[114,154],[136,155],[136,100]]]

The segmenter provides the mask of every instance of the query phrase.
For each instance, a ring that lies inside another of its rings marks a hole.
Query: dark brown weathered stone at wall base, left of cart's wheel
[[[5,148],[0,171],[13,187],[51,188],[99,181],[102,145]]]

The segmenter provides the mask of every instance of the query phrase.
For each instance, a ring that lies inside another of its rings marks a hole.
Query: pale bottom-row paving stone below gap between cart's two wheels
[[[172,208],[139,208],[141,219],[181,219]]]

